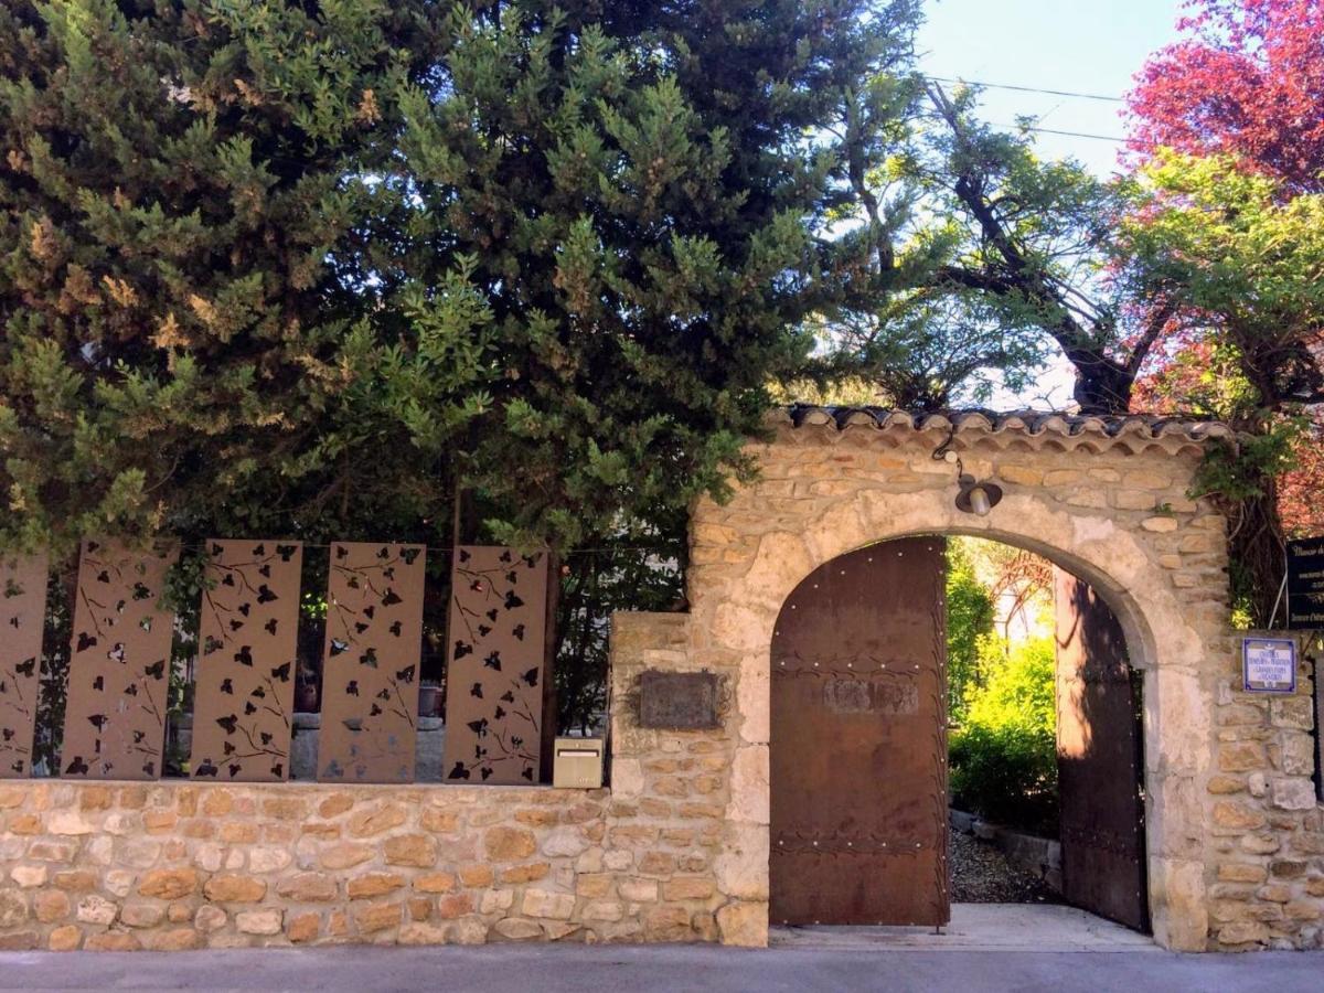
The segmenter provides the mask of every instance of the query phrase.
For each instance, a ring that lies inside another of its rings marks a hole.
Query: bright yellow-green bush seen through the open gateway
[[[1033,831],[1057,830],[1057,710],[1053,638],[981,649],[988,682],[970,694],[965,722],[951,736],[953,802]]]

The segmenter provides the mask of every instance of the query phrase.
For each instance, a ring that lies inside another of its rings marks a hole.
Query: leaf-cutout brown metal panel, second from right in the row
[[[322,782],[410,782],[422,653],[421,544],[331,545]]]

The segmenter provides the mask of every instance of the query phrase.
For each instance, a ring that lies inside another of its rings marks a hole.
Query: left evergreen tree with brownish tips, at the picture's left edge
[[[426,532],[438,465],[355,389],[424,334],[364,234],[426,7],[0,11],[0,544]]]

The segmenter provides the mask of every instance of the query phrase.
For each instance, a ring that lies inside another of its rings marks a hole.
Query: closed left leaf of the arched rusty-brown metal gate
[[[822,565],[772,639],[775,924],[945,924],[944,542]]]

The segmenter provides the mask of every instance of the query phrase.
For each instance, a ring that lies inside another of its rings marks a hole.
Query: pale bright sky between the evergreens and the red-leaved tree
[[[927,0],[919,34],[920,68],[933,77],[1121,98],[1145,58],[1176,40],[1181,0]],[[1123,105],[989,87],[982,117],[1107,138],[1125,132]],[[1100,176],[1117,169],[1119,142],[1035,134],[1043,158],[1078,159]],[[1062,408],[1074,376],[1054,361],[1031,391],[1000,393],[992,406]]]

